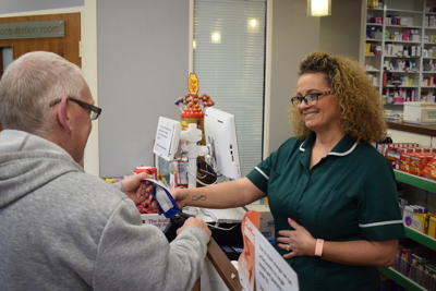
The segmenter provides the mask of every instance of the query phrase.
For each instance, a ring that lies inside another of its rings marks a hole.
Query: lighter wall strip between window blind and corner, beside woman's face
[[[291,136],[289,98],[296,84],[299,62],[319,48],[319,17],[307,16],[306,1],[272,0],[270,33],[270,93],[267,96],[264,156]]]

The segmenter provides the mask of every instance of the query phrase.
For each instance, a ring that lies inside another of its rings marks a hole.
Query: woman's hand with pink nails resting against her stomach
[[[277,238],[277,245],[289,252],[283,257],[314,256],[316,239],[294,220],[288,218],[288,222],[294,230],[280,230],[278,234],[281,238]]]

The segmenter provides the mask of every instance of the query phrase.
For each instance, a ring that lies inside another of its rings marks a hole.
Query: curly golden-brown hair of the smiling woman
[[[380,94],[355,60],[316,51],[300,62],[298,75],[322,73],[338,105],[342,130],[358,141],[376,143],[386,138],[387,124]],[[311,132],[299,110],[290,105],[289,119],[293,134],[303,140]]]

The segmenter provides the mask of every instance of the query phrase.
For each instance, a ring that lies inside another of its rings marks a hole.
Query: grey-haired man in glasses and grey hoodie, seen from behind
[[[77,162],[101,109],[82,71],[29,52],[0,82],[2,290],[190,290],[210,231],[196,218],[171,243],[142,225],[146,174],[110,185]]]

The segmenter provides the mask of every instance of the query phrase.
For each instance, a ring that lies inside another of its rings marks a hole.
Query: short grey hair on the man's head
[[[0,81],[0,122],[3,129],[37,135],[50,131],[50,101],[64,95],[80,98],[82,70],[47,51],[27,52],[12,62]]]

